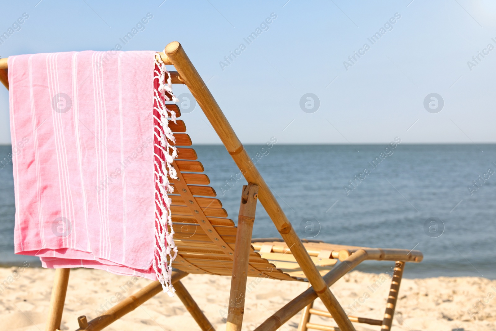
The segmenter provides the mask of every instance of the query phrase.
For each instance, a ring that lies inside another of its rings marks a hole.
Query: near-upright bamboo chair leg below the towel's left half
[[[67,292],[67,283],[69,282],[69,271],[69,268],[55,270],[54,287],[52,288],[50,310],[48,312],[48,321],[45,331],[54,331],[61,327],[65,293]]]

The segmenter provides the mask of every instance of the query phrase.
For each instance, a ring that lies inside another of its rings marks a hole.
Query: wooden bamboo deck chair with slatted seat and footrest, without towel
[[[175,186],[171,207],[176,232],[174,239],[179,248],[179,254],[172,264],[172,282],[176,294],[200,329],[214,331],[180,281],[188,273],[232,277],[228,331],[241,330],[247,276],[310,283],[309,289],[268,318],[255,329],[256,331],[275,331],[300,311],[303,311],[300,331],[309,328],[353,331],[355,328],[352,322],[380,325],[381,330],[390,330],[405,262],[422,261],[422,253],[300,240],[182,46],[178,42],[172,42],[160,56],[167,65],[176,68],[177,72],[171,72],[172,82],[186,84],[248,182],[248,185],[243,187],[238,226],[235,227],[234,222],[227,218],[227,212],[222,208],[220,200],[214,198],[216,194],[214,189],[208,186],[207,175],[201,174],[203,166],[196,160],[195,151],[188,147],[191,145],[191,139],[185,133],[184,122],[178,120],[177,125],[171,123],[176,145],[180,146],[179,157],[174,161],[178,179],[172,182]],[[6,68],[6,59],[0,59],[0,81],[8,88]],[[168,107],[173,107],[178,117],[180,116],[176,105]],[[258,200],[282,239],[251,239]],[[396,263],[382,320],[347,316],[329,289],[330,285],[365,260],[389,260]],[[341,263],[337,264],[338,261]],[[69,269],[56,270],[46,331],[60,328],[68,277]],[[78,330],[102,330],[161,291],[160,283],[152,282],[89,322],[85,316],[79,317]],[[327,311],[312,308],[312,303],[317,297]],[[309,323],[310,314],[332,317],[339,329]]]

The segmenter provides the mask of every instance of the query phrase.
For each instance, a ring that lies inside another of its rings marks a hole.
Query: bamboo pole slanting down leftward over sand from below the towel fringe
[[[172,283],[176,283],[181,278],[185,277],[187,272],[181,270],[172,271]],[[156,294],[162,291],[162,284],[158,280],[143,287],[133,295],[128,296],[114,307],[110,308],[103,315],[88,322],[86,328],[79,328],[77,331],[99,331],[109,326],[116,320],[123,317],[125,314],[133,311],[148,299],[151,299]],[[81,316],[82,317],[82,316]],[[81,317],[79,317],[81,319]],[[53,330],[51,330],[53,331]]]

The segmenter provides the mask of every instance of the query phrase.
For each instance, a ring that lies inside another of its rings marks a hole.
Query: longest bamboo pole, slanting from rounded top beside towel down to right
[[[172,42],[165,47],[164,52],[186,82],[189,91],[203,110],[215,132],[219,135],[247,182],[258,185],[260,202],[284,241],[290,247],[291,253],[293,253],[296,261],[301,266],[310,284],[316,289],[316,293],[320,297],[320,300],[322,300],[325,308],[332,314],[336,323],[343,331],[354,331],[355,328],[346,316],[343,308],[326,286],[325,281],[311,261],[302,241],[291,226],[270,188],[253,165],[247,151],[236,136],[219,105],[203,82],[203,79],[201,79],[198,71],[196,71],[187,57],[181,44],[177,41]]]

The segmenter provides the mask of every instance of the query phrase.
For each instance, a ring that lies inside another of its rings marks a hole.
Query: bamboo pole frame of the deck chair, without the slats
[[[334,328],[311,324],[309,321],[310,315],[312,313],[317,315],[320,314],[323,316],[331,316],[338,324],[340,330],[354,331],[355,329],[351,324],[350,318],[353,322],[361,322],[360,320],[367,319],[356,317],[348,318],[328,287],[364,260],[393,260],[397,261],[397,266],[394,270],[393,281],[391,283],[381,329],[381,331],[389,331],[397,301],[404,263],[422,261],[422,253],[418,251],[407,252],[406,250],[395,249],[372,249],[353,246],[329,245],[329,258],[339,258],[339,260],[343,262],[334,267],[330,272],[322,277],[310,258],[310,255],[318,256],[318,254],[320,254],[320,251],[313,252],[311,248],[309,248],[310,254],[309,252],[307,252],[307,249],[303,245],[298,235],[295,233],[295,230],[292,228],[291,223],[282,211],[270,188],[260,176],[255,166],[252,164],[248,153],[246,152],[244,146],[241,144],[241,141],[236,136],[236,133],[227,121],[226,117],[222,113],[219,105],[213,98],[212,94],[206,87],[206,84],[203,82],[194,66],[191,64],[182,46],[178,42],[172,42],[166,46],[163,53],[160,53],[160,57],[166,65],[174,65],[178,70],[170,71],[172,83],[186,84],[186,86],[189,88],[191,94],[198,102],[198,105],[203,110],[205,116],[209,120],[215,132],[217,132],[229,154],[233,157],[242,174],[245,176],[245,179],[248,181],[248,183],[250,183],[250,185],[248,186],[248,192],[251,192],[250,190],[253,188],[256,188],[256,190],[260,192],[260,202],[271,217],[274,225],[276,226],[277,230],[279,231],[287,245],[286,247],[274,246],[274,252],[282,250],[289,253],[290,251],[295,260],[301,266],[303,272],[305,273],[311,284],[311,287],[308,290],[300,294],[298,297],[296,297],[279,311],[277,311],[274,315],[269,317],[258,328],[256,328],[255,331],[275,331],[302,309],[304,309],[304,314],[302,316],[302,323],[301,327],[299,327],[299,331],[307,331],[307,328],[314,328],[319,330],[335,330]],[[0,81],[8,89],[9,86],[7,77],[7,66],[7,59],[0,59]],[[184,183],[184,178],[181,179]],[[255,194],[253,194],[253,196],[250,195],[251,193],[246,196],[247,200],[250,197],[253,198]],[[201,210],[196,200],[192,200],[195,203],[194,206],[190,206],[188,204],[186,205],[188,205],[190,208],[196,207],[195,210]],[[196,204],[198,204],[198,206]],[[249,247],[255,206],[256,200],[254,200],[254,203],[247,203],[245,207],[243,205],[243,202],[240,205],[239,227],[237,229],[235,244],[236,250],[234,251],[233,257],[234,264],[227,325],[228,331],[240,331],[243,322],[244,295],[247,280],[246,277],[248,274]],[[201,222],[199,222],[199,224],[200,226],[202,225]],[[216,243],[214,242],[214,244]],[[229,245],[225,246],[229,247]],[[226,256],[229,256],[227,255],[229,251],[233,253],[233,250],[231,248],[226,250],[227,251],[224,252]],[[327,253],[327,251],[325,253]],[[249,266],[251,267],[251,264]],[[52,291],[49,321],[47,323],[46,329],[47,331],[54,331],[60,328],[63,304],[67,289],[68,275],[69,269],[56,270],[54,289]],[[211,329],[213,330],[210,322],[201,312],[197,304],[187,292],[184,285],[179,281],[179,279],[183,278],[186,275],[187,272],[185,271],[175,270],[173,272],[172,281],[173,283],[175,283],[176,292],[181,301],[185,304],[187,310],[191,313],[195,321],[198,323],[202,331],[208,331]],[[85,316],[80,316],[78,318],[80,329],[78,330],[101,330],[117,319],[121,318],[128,312],[134,310],[143,302],[161,292],[161,290],[161,284],[158,281],[155,281],[145,288],[141,289],[134,295],[124,299],[119,304],[109,309],[104,315],[90,322],[87,321]],[[237,304],[236,300],[233,301],[233,299],[241,297],[243,298],[243,300],[240,304]],[[328,313],[325,311],[317,311],[312,308],[313,301],[317,297],[320,297],[325,307],[327,308]],[[235,304],[231,305],[231,303],[233,302]],[[304,321],[305,323],[303,323]],[[370,321],[373,321],[374,323],[378,322],[377,320]]]

